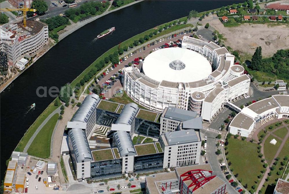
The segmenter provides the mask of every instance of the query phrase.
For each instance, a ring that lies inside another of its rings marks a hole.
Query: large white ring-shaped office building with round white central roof
[[[234,65],[235,57],[225,47],[188,36],[184,36],[181,47],[149,54],[142,71],[124,68],[123,88],[127,95],[156,112],[162,112],[165,107],[177,107],[196,111],[203,120],[210,121],[224,102],[248,93],[250,79],[247,75],[242,77],[244,68]],[[236,81],[238,77],[242,79]],[[241,84],[237,96],[230,96],[228,83],[232,80],[235,80],[234,85],[230,87]],[[201,97],[194,95],[196,92]],[[204,102],[218,104],[204,108]]]

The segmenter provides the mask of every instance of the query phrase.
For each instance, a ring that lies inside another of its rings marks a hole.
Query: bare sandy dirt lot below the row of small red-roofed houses
[[[209,23],[227,39],[225,45],[240,51],[241,55],[253,55],[257,46],[262,47],[264,57],[272,56],[279,49],[289,48],[289,27],[286,25],[241,24],[224,27],[216,15],[205,17],[201,24]]]

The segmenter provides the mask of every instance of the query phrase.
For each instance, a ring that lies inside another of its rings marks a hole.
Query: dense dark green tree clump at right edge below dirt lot
[[[252,56],[251,70],[277,75],[278,79],[289,80],[289,49],[278,50],[273,57],[262,58],[262,48],[257,47]]]

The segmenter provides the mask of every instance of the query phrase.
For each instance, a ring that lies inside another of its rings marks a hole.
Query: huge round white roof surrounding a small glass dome
[[[177,67],[175,70],[170,67]],[[181,61],[182,63],[180,63]],[[184,67],[185,66],[185,67]],[[156,81],[193,82],[212,73],[209,61],[202,55],[181,48],[165,48],[149,54],[142,65],[144,74]]]

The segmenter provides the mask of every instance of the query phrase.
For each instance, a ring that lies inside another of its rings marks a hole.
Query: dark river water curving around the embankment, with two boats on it
[[[54,99],[38,97],[38,87],[60,88],[70,83],[108,49],[147,29],[187,16],[190,10],[202,12],[243,1],[143,1],[97,19],[60,41],[0,95],[1,180],[6,170],[5,160],[29,126]],[[112,26],[116,27],[112,34],[94,41],[99,33]],[[36,103],[36,108],[27,113],[27,107],[32,103]]]

